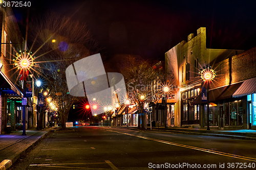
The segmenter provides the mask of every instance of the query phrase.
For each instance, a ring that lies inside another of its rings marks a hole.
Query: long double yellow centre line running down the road
[[[139,138],[142,138],[142,139],[147,139],[147,140],[157,141],[157,142],[166,143],[166,144],[170,144],[170,145],[175,145],[177,147],[183,147],[183,148],[188,148],[188,149],[208,152],[208,153],[211,153],[211,154],[217,154],[217,155],[222,155],[222,156],[227,156],[227,157],[244,159],[244,160],[256,162],[256,158],[250,158],[250,157],[245,157],[245,156],[240,156],[240,155],[234,155],[234,154],[229,154],[229,153],[219,152],[219,151],[212,151],[212,150],[208,150],[208,149],[204,149],[204,148],[192,147],[192,146],[185,145],[185,144],[179,144],[179,143],[169,142],[169,141],[165,141],[165,140],[154,139],[154,138],[140,136],[140,135],[134,135],[134,134],[130,134],[130,133],[123,133],[123,132],[117,132],[117,131],[112,131],[112,130],[106,130],[106,131],[116,132],[116,133],[120,133],[120,134],[124,134],[124,135],[130,135],[130,136],[134,136],[134,137],[139,137]]]

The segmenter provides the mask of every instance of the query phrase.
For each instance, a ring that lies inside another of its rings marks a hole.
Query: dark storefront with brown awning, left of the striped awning
[[[245,98],[233,98],[232,94],[242,85],[235,83],[209,90],[209,126],[212,129],[243,129]],[[191,103],[201,114],[201,128],[207,127],[207,103],[202,102],[202,93]]]

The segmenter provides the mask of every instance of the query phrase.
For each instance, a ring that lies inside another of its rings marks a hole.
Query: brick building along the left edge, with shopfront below
[[[0,7],[1,56],[0,56],[0,132],[15,130],[22,123],[22,81],[13,59],[23,49],[24,39],[10,7]]]

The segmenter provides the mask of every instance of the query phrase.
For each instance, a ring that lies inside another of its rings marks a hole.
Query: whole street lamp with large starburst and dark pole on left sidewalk
[[[23,80],[23,98],[26,99],[26,90],[25,90],[25,81],[27,76],[29,75],[29,68],[33,66],[33,57],[24,51],[19,51],[19,53],[16,53],[15,57],[16,59],[13,59],[14,65],[16,68],[20,69],[19,74],[22,75],[20,78],[20,81]],[[32,52],[31,52],[32,53]],[[23,105],[23,133],[22,135],[27,135],[26,134],[26,114],[25,114],[25,105]]]

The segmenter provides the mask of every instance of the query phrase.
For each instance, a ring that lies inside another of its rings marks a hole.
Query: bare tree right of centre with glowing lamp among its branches
[[[144,117],[141,115],[144,104],[154,100],[155,95],[162,90],[159,84],[165,80],[166,74],[170,74],[162,69],[156,69],[156,63],[156,61],[138,60],[129,56],[121,64],[129,98],[136,104],[139,113],[138,127],[142,119],[142,128],[145,126]]]

